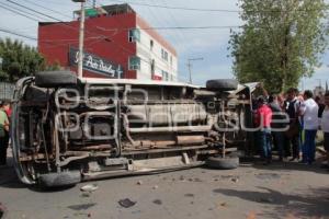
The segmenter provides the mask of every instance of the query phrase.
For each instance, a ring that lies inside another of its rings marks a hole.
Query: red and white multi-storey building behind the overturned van
[[[92,10],[92,9],[89,9]],[[177,80],[175,49],[128,4],[94,9],[86,19],[83,76]],[[76,12],[79,16],[79,12]],[[79,18],[42,22],[38,50],[50,64],[77,71]]]

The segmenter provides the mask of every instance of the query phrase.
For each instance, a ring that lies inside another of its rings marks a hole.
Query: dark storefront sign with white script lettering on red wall
[[[79,50],[70,48],[69,61],[70,66],[77,66],[79,60]],[[105,60],[93,54],[83,53],[83,69],[100,73],[110,78],[123,78],[123,68],[109,60]]]

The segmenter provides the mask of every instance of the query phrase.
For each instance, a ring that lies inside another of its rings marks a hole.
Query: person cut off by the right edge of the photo
[[[324,137],[325,137],[325,150],[327,152],[326,157],[326,168],[329,169],[329,92],[326,92],[325,94],[325,108],[322,114],[320,115],[321,117],[321,129],[324,131]]]

